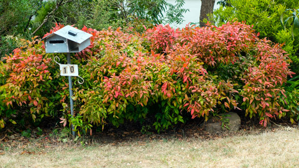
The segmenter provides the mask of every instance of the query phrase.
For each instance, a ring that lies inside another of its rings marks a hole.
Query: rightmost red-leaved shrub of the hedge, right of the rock
[[[281,47],[278,44],[271,45],[271,41],[266,39],[259,40],[254,56],[258,66],[250,65],[242,78],[245,85],[240,94],[244,97],[246,114],[249,113],[252,117],[258,113],[264,126],[269,118],[281,118],[289,111],[284,107],[287,97],[282,85],[294,73],[288,68],[290,60]]]

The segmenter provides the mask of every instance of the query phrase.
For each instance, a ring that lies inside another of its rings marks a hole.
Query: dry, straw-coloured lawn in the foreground
[[[20,155],[17,149],[7,149],[0,155],[0,167],[299,167],[299,130],[290,127],[213,140],[170,138],[49,148],[31,144],[25,148],[32,153]]]

